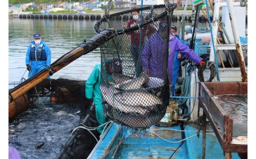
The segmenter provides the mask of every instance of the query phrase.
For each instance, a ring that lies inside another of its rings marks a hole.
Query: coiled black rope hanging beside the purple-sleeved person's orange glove
[[[206,63],[204,63],[202,66],[200,66],[198,68],[197,76],[198,76],[198,79],[202,82],[204,81],[203,71],[205,69],[210,70],[210,76],[209,76],[209,79],[206,82],[211,82],[212,79],[214,78],[215,74],[216,74],[216,64],[215,64],[215,62],[207,61]]]

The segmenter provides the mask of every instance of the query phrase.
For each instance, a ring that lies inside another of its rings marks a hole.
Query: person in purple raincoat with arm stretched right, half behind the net
[[[166,57],[165,53],[167,52],[165,50],[165,46],[167,43],[164,41],[167,40],[166,37],[168,37],[166,35],[167,27],[168,25],[166,20],[159,22],[157,32],[150,36],[146,41],[144,49],[141,53],[141,60],[143,70],[151,77],[164,78],[165,69],[168,67],[169,81],[171,81],[175,51],[181,53],[182,56],[191,59],[196,64],[202,65],[204,61],[187,45],[182,44],[171,32],[169,36],[168,57]],[[166,58],[168,59],[168,66],[165,64]]]

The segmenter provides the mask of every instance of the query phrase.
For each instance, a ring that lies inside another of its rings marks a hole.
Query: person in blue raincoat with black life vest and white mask
[[[48,45],[41,39],[40,33],[33,34],[33,41],[30,42],[27,51],[25,64],[28,78],[50,65],[51,51]],[[49,79],[49,76],[46,77]]]

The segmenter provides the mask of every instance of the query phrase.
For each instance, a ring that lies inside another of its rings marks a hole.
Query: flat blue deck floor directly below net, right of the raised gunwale
[[[128,131],[124,132],[124,136],[128,134]],[[125,140],[116,156],[121,158],[133,158],[134,156],[137,158],[169,158],[174,153],[172,158],[188,158],[185,144],[180,141],[181,138],[180,131],[152,126],[149,130],[136,132]]]

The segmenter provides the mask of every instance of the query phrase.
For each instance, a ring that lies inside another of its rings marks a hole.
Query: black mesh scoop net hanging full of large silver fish
[[[169,103],[169,26],[175,7],[166,1],[111,15],[105,9],[105,16],[96,22],[96,32],[109,28],[118,32],[100,45],[103,109],[114,122],[145,129],[164,116]],[[140,20],[130,22],[134,12]]]

